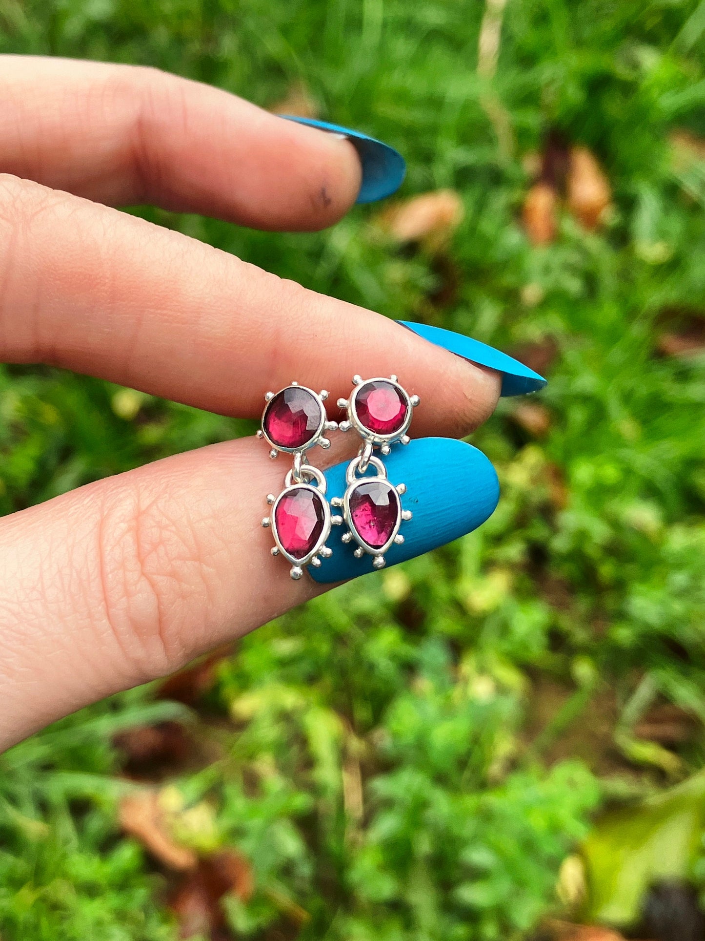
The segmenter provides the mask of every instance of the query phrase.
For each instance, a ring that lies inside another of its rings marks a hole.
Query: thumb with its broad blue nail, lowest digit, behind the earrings
[[[394,485],[408,481],[402,502],[414,510],[389,564],[474,529],[493,511],[492,466],[461,441],[412,442],[388,467]],[[339,465],[328,472],[326,497],[342,494],[342,475]],[[292,581],[290,566],[271,554],[260,520],[267,491],[281,485],[261,442],[243,439],[0,521],[0,747],[178,669],[324,590],[307,575]],[[328,543],[335,549],[326,562],[335,566],[327,574],[321,566],[323,581],[368,570],[339,536]]]

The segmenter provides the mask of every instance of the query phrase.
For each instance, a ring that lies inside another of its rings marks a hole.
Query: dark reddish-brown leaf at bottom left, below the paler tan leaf
[[[169,900],[169,907],[179,919],[180,937],[213,937],[227,927],[221,899],[234,893],[247,901],[253,892],[252,869],[242,853],[222,850],[201,859],[188,872]]]

